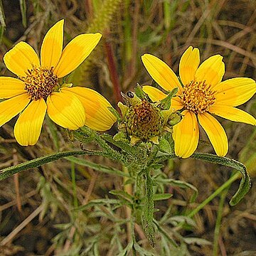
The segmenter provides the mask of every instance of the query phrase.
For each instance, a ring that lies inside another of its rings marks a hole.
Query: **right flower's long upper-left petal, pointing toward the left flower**
[[[142,62],[149,75],[151,75],[151,78],[164,88],[164,90],[171,91],[175,87],[178,87],[181,92],[182,87],[180,82],[178,82],[177,76],[164,61],[154,55],[146,53],[142,55]]]

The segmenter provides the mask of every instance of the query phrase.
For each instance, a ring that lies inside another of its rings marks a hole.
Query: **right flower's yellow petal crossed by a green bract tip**
[[[144,92],[146,92],[147,95],[149,95],[150,100],[152,100],[153,102],[163,100],[167,96],[161,90],[150,85],[144,85],[143,90]],[[171,99],[171,108],[174,108],[174,110],[181,110],[183,108],[183,104],[181,103],[179,97],[173,97]]]

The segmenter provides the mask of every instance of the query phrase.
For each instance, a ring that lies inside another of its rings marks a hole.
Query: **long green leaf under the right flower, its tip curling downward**
[[[251,187],[250,177],[247,174],[246,167],[239,161],[228,159],[226,157],[215,156],[213,154],[202,154],[202,153],[195,153],[191,157],[194,159],[208,161],[210,163],[221,164],[223,166],[228,166],[230,168],[233,168],[236,171],[240,171],[240,173],[242,174],[242,179],[240,181],[238,191],[230,200],[230,206],[235,206],[236,204],[238,204],[240,200],[244,198],[247,192],[250,190],[250,187]]]

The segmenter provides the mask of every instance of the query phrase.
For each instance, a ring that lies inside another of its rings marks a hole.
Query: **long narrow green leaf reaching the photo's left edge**
[[[65,151],[65,152],[50,154],[48,156],[41,156],[41,157],[38,157],[37,159],[26,161],[25,163],[22,163],[22,164],[17,164],[16,166],[11,166],[5,169],[1,169],[0,181],[4,180],[5,178],[8,178],[11,175],[17,174],[18,172],[36,168],[38,166],[42,166],[43,164],[48,164],[52,161],[63,159],[66,156],[85,155],[85,154],[93,154],[93,151]]]

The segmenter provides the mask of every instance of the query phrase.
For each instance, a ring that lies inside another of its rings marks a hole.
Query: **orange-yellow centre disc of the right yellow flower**
[[[210,85],[206,81],[191,81],[184,85],[181,93],[181,102],[187,110],[203,113],[209,110],[215,102],[215,91],[210,90]]]

